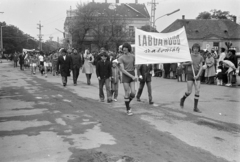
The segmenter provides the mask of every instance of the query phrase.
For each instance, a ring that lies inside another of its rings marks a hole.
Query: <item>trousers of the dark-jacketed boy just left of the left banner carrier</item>
[[[110,80],[108,79],[100,79],[99,80],[99,98],[100,100],[104,100],[105,96],[103,93],[103,86],[105,85],[106,91],[107,91],[107,99],[112,99],[112,95],[110,92]]]

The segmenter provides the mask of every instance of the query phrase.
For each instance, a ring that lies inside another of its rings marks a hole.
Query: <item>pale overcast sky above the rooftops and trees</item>
[[[104,3],[105,0],[94,0]],[[148,2],[152,0],[138,0],[138,3],[145,4],[149,14],[151,14],[151,5]],[[81,2],[92,2],[92,0],[1,0],[0,1],[0,21],[5,21],[8,25],[14,25],[24,33],[38,39],[38,25],[41,22],[43,40],[57,41],[57,38],[63,39],[64,21],[66,11],[76,9],[76,5]],[[108,3],[115,3],[116,0],[107,0]],[[135,3],[135,0],[119,0],[120,3]],[[156,21],[158,31],[162,31],[176,19],[195,19],[200,12],[210,11],[212,9],[229,11],[230,14],[237,16],[237,22],[240,22],[240,0],[156,0],[155,19],[167,13],[176,12],[170,16],[163,16]],[[60,31],[56,30],[59,29]],[[4,30],[4,28],[3,28]]]

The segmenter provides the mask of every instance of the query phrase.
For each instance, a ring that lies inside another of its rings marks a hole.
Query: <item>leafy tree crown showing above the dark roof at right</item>
[[[210,12],[204,11],[199,13],[196,19],[229,19],[233,20],[234,15],[231,15],[229,11],[221,11],[213,9]]]

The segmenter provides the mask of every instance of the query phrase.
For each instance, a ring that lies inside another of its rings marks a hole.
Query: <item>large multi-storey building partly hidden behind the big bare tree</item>
[[[119,3],[118,0],[116,0],[116,3],[95,3],[90,2],[88,5],[90,5],[93,8],[97,8],[96,10],[96,17],[98,19],[104,18],[105,14],[111,14],[111,17],[114,19],[114,21],[119,22],[124,19],[124,22],[122,21],[121,24],[115,23],[115,24],[105,24],[102,26],[103,31],[106,31],[106,33],[103,36],[107,36],[109,34],[114,34],[115,37],[119,35],[121,32],[127,33],[126,36],[124,36],[124,41],[129,43],[134,43],[134,34],[135,30],[134,28],[141,28],[142,26],[149,25],[150,24],[150,15],[148,13],[148,10],[145,6],[145,4],[137,3],[136,0],[135,3]],[[67,11],[67,17],[64,23],[64,32],[66,39],[69,39],[69,42],[71,43],[72,36],[69,32],[69,24],[71,23],[72,18],[76,15],[76,10]],[[113,27],[114,26],[114,27]],[[114,29],[113,29],[114,28]],[[114,30],[114,31],[113,31]],[[94,36],[93,31],[89,31],[86,34],[85,42],[84,44],[87,46],[87,48],[90,48],[94,50]]]

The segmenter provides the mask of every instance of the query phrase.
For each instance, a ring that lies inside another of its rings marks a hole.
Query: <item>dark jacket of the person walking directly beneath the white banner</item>
[[[138,67],[138,77],[142,75],[142,79],[139,79],[140,82],[151,82],[152,81],[152,74],[150,74],[150,71],[152,71],[152,64],[146,65],[142,64]]]

